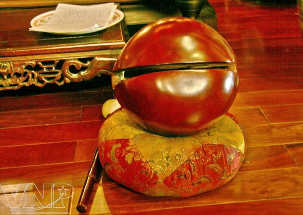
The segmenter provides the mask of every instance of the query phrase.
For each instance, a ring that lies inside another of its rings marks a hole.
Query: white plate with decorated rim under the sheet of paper
[[[30,25],[32,27],[37,27],[40,25],[45,25],[49,19],[53,16],[55,11],[48,11],[46,13],[40,14],[33,18],[30,21]],[[43,31],[47,33],[53,33],[53,34],[64,34],[64,35],[77,35],[77,34],[85,34],[85,33],[92,33],[100,30],[104,30],[106,28],[109,28],[117,23],[119,23],[122,19],[124,18],[124,14],[122,11],[117,10],[114,13],[113,19],[110,21],[110,23],[107,26],[99,27],[99,28],[91,28],[91,29],[85,29],[85,30],[80,30],[80,31],[73,31],[73,32],[63,32],[63,33],[58,33],[58,32],[49,32],[49,31]]]

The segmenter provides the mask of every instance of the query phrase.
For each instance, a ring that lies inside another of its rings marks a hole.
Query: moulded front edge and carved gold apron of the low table
[[[129,38],[124,20],[115,26],[119,39],[112,41],[72,44],[68,47],[54,45],[41,49],[2,49],[0,91],[18,90],[31,85],[42,88],[48,83],[63,85],[89,80],[101,74],[110,75]]]

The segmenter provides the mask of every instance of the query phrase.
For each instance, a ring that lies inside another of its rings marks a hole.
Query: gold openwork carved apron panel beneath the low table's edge
[[[44,87],[46,83],[63,85],[89,80],[100,74],[111,75],[116,59],[81,58],[68,60],[0,62],[0,91],[23,86]]]

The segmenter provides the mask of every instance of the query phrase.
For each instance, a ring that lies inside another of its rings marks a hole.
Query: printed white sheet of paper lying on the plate
[[[116,8],[117,5],[114,3],[90,6],[60,3],[45,25],[31,27],[30,30],[72,32],[104,27],[112,20]]]

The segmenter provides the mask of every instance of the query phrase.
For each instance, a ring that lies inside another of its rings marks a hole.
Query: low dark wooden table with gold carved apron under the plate
[[[83,35],[28,30],[32,18],[54,9],[0,10],[0,91],[63,85],[111,71],[126,44],[124,22]]]

